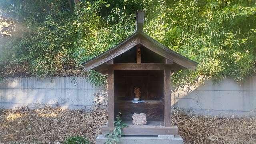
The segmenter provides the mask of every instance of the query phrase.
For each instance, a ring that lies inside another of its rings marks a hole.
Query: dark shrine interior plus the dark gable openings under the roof
[[[114,63],[136,63],[134,47],[114,58]],[[142,63],[163,63],[164,58],[141,46]],[[140,88],[140,100],[132,103],[134,88]],[[132,123],[133,113],[145,113],[147,125],[162,126],[164,123],[164,71],[163,70],[114,70],[114,114],[121,112],[122,120]]]

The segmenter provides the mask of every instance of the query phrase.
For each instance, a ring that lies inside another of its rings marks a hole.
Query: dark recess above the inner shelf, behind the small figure
[[[133,100],[134,88],[140,88],[141,100],[161,100],[163,70],[115,70],[115,100]]]

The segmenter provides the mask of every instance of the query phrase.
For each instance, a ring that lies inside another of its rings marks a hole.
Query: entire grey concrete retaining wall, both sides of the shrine
[[[104,90],[104,86],[92,86],[83,77],[8,78],[0,84],[0,108],[48,104],[90,109],[94,100],[106,102]],[[99,93],[98,98],[96,93]],[[242,84],[232,79],[224,79],[219,84],[208,80],[204,84],[172,90],[171,100],[173,108],[199,115],[256,116],[256,77]]]

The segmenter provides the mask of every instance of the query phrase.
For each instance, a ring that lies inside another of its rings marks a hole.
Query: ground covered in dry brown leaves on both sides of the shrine
[[[107,113],[61,108],[0,110],[0,144],[61,144],[68,136],[84,136],[95,143]],[[217,118],[172,115],[185,144],[256,144],[256,118]]]

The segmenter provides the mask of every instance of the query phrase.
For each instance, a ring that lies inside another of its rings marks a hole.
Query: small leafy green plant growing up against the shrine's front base
[[[121,113],[118,114],[116,117],[116,120],[114,121],[114,124],[116,128],[113,130],[113,132],[110,132],[108,134],[108,141],[106,141],[104,144],[116,144],[119,142],[119,136],[123,135],[122,130],[124,127],[128,127],[127,124],[122,122],[121,120]]]

